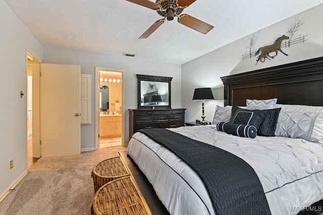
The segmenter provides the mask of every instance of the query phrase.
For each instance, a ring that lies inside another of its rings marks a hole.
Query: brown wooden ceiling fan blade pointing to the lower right
[[[182,25],[185,25],[195,31],[198,31],[202,34],[207,34],[210,30],[213,29],[213,26],[198,20],[190,15],[187,14],[183,14],[181,15],[178,20],[179,23],[181,23]]]

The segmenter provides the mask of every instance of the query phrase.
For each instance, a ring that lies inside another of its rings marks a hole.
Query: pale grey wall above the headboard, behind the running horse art
[[[322,11],[323,4],[254,33],[256,39],[255,50],[257,50],[264,45],[273,44],[276,38],[287,34],[287,29],[294,23],[295,19],[303,18],[304,24],[293,38],[302,34],[308,35],[308,40],[304,43],[282,48],[288,56],[278,52],[274,59],[266,59],[264,62],[259,61],[257,65],[255,65],[255,56],[241,60],[239,56],[248,50],[246,47],[249,45],[249,37],[251,35],[247,35],[231,44],[183,64],[182,107],[187,108],[185,121],[201,119],[201,102],[192,101],[195,88],[212,88],[214,98],[216,99],[205,101],[205,119],[212,121],[215,106],[224,105],[224,89],[220,77],[323,56]],[[271,55],[274,54],[271,53]]]

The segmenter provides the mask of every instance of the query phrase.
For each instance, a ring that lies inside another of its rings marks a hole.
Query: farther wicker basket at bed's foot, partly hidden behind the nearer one
[[[92,170],[94,192],[107,182],[127,175],[130,175],[130,172],[120,157],[97,163]]]

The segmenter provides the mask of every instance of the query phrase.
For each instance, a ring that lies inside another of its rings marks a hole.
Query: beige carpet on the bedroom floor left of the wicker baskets
[[[90,214],[93,166],[126,149],[110,147],[76,156],[40,158],[0,202],[0,214]]]

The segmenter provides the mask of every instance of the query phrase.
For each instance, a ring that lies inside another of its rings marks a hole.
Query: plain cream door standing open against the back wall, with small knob
[[[41,64],[42,157],[79,155],[80,66]]]

